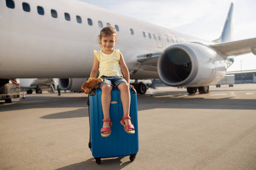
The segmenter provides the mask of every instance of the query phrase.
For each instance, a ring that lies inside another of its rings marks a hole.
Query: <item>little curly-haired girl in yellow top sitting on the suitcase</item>
[[[125,60],[119,52],[119,50],[113,49],[117,42],[117,32],[116,29],[108,26],[100,31],[99,44],[102,50],[94,50],[94,60],[93,68],[90,74],[91,78],[96,78],[98,68],[99,77],[103,79],[102,83],[99,83],[102,89],[102,110],[103,110],[103,127],[101,129],[101,136],[108,137],[111,134],[111,119],[109,116],[109,108],[111,102],[111,90],[116,88],[120,90],[120,97],[123,106],[123,118],[120,123],[125,127],[127,133],[135,133],[134,125],[131,124],[130,113],[130,89],[133,87],[130,85],[130,75],[128,68],[125,64]],[[120,66],[124,73],[124,78],[122,76]],[[99,78],[98,77],[98,78]]]

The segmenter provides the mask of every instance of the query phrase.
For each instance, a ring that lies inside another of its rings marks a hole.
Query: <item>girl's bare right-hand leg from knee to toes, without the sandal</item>
[[[120,83],[117,85],[117,88],[120,90],[120,97],[122,101],[124,117],[129,116],[130,113],[130,102],[131,102],[131,94],[128,83]],[[130,119],[125,119],[125,125],[131,125]],[[133,128],[128,129],[128,131],[133,130]]]

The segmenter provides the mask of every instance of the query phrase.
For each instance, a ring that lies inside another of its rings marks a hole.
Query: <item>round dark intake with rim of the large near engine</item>
[[[184,44],[172,45],[159,57],[157,72],[167,85],[186,85],[195,79],[198,72],[195,53]]]

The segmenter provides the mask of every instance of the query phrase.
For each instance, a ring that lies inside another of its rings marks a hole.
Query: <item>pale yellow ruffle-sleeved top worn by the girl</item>
[[[101,50],[94,50],[94,54],[99,61],[99,77],[101,76],[122,76],[119,59],[119,50],[113,50],[111,54],[104,54]],[[98,78],[99,78],[98,77]]]

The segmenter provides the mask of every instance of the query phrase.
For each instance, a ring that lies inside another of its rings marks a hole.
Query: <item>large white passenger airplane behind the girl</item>
[[[80,89],[90,76],[93,50],[100,50],[99,32],[111,25],[138,93],[146,92],[138,79],[208,93],[234,56],[256,55],[256,38],[231,41],[233,6],[221,37],[209,42],[78,0],[1,0],[0,79],[58,77],[62,89]]]

